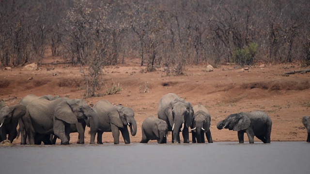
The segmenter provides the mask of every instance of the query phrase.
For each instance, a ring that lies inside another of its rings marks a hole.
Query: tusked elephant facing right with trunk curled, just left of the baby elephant
[[[114,144],[120,143],[120,132],[125,144],[130,144],[130,136],[127,126],[130,127],[131,134],[137,133],[137,124],[132,109],[123,106],[114,106],[107,100],[98,101],[93,105],[93,110],[98,114],[99,126],[97,131],[97,144],[102,143],[102,134],[112,132]],[[90,118],[90,125],[93,121]],[[132,127],[131,127],[132,126]]]

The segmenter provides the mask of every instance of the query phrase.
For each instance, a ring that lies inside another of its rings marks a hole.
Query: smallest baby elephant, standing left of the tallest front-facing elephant
[[[166,121],[149,116],[142,123],[142,140],[140,143],[147,143],[149,140],[157,140],[157,143],[167,143],[168,125]]]

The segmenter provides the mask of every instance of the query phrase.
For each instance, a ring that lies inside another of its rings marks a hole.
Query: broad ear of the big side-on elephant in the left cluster
[[[70,124],[78,123],[78,118],[73,114],[71,107],[68,101],[60,102],[55,108],[55,116]]]

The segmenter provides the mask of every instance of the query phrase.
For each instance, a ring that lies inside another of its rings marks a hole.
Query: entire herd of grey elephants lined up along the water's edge
[[[310,116],[304,116],[302,123],[307,128],[310,142]],[[17,126],[19,129],[17,130]],[[140,143],[157,140],[167,143],[168,132],[171,131],[171,142],[180,143],[182,132],[184,143],[189,143],[189,128],[193,143],[213,143],[210,131],[211,116],[201,104],[192,106],[174,93],[164,95],[158,103],[157,117],[145,118],[141,125],[142,139]],[[20,134],[21,145],[56,144],[68,145],[70,133],[78,132],[78,144],[84,144],[86,126],[90,127],[90,144],[103,144],[102,134],[112,132],[114,144],[119,144],[120,132],[125,144],[130,144],[130,133],[135,136],[137,123],[134,111],[130,107],[113,105],[100,100],[91,107],[83,99],[69,99],[50,95],[35,96],[29,94],[19,104],[6,106],[0,101],[0,142],[11,143]],[[239,143],[244,143],[247,133],[249,143],[254,143],[254,136],[263,143],[270,143],[272,121],[263,111],[241,112],[231,114],[217,123],[217,129],[237,131]],[[204,135],[205,134],[205,135]]]

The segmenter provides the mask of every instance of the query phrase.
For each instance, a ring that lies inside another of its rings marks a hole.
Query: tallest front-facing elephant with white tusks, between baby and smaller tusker
[[[168,131],[172,131],[172,143],[180,143],[182,131],[184,143],[189,143],[188,128],[193,124],[194,110],[190,102],[186,102],[174,93],[165,94],[158,103],[159,119],[168,124]]]

